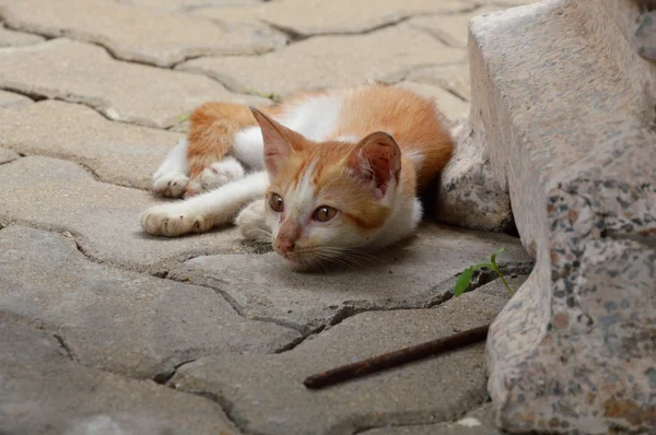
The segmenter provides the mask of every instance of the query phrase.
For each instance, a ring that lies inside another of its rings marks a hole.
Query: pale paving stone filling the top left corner
[[[171,67],[191,57],[255,55],[286,37],[256,23],[218,23],[106,0],[0,0],[13,28],[99,44],[115,57]]]

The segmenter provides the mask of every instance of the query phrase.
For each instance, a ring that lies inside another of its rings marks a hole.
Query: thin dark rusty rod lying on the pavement
[[[489,329],[490,325],[485,325],[436,340],[426,341],[425,343],[411,345],[399,351],[359,361],[358,363],[343,365],[328,372],[309,376],[303,384],[309,389],[319,389],[386,368],[397,367],[413,361],[460,349],[469,344],[485,341]]]

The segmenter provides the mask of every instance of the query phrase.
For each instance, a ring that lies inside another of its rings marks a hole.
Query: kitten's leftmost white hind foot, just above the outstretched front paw
[[[187,163],[187,141],[175,145],[153,175],[153,191],[163,197],[181,197],[189,184]]]

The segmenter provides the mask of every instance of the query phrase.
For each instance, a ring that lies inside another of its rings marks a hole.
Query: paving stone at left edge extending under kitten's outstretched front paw
[[[86,255],[101,262],[164,273],[197,255],[253,251],[233,227],[181,238],[148,236],[139,216],[162,200],[143,190],[96,181],[72,162],[28,156],[1,165],[0,176],[4,180],[0,221],[68,231]]]

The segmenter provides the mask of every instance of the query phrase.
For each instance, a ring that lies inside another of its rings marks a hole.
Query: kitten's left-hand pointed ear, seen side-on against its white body
[[[278,175],[290,154],[303,146],[304,138],[255,107],[250,107],[250,111],[262,131],[267,172],[273,176]]]

